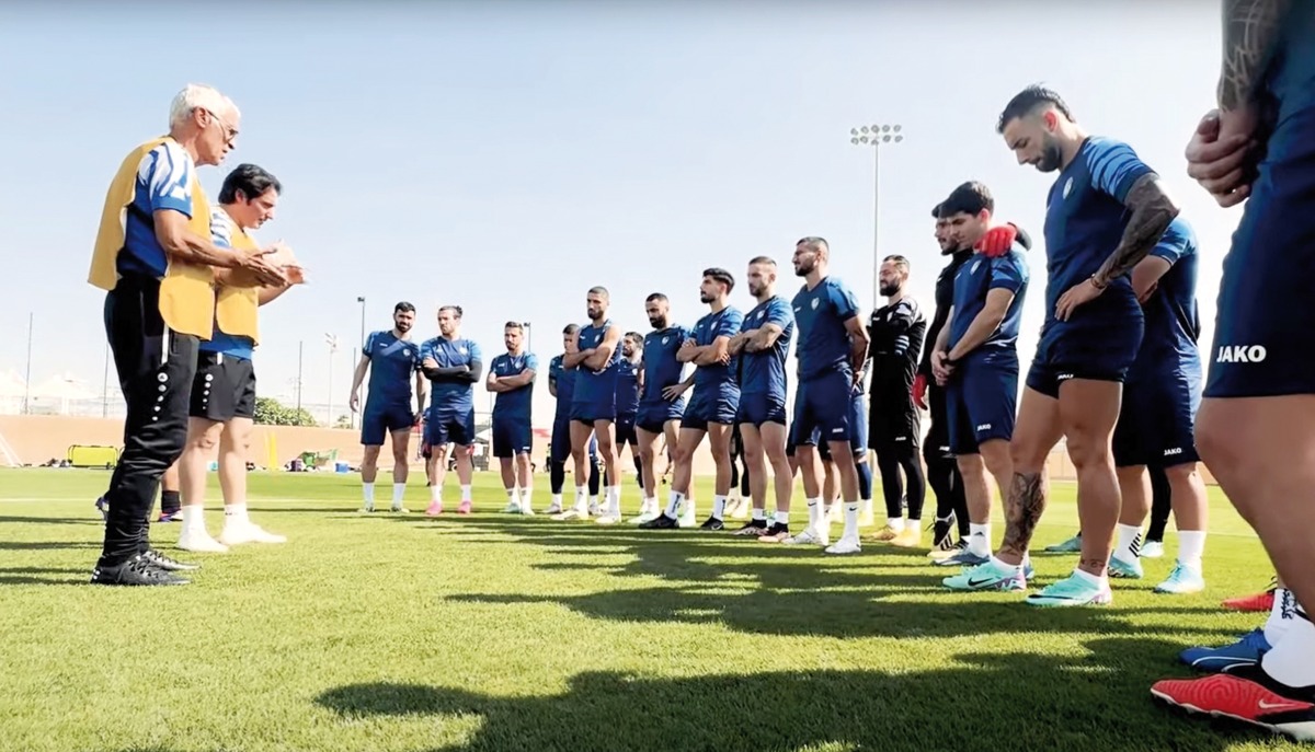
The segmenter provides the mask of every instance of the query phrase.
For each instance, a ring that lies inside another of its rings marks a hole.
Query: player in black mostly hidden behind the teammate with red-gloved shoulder
[[[926,347],[918,363],[918,373],[913,381],[913,401],[923,410],[931,413],[931,426],[927,429],[926,443],[922,450],[923,460],[927,463],[927,485],[936,494],[936,522],[931,529],[931,555],[949,556],[968,547],[968,498],[964,496],[964,479],[959,475],[959,464],[949,451],[949,426],[945,417],[945,390],[931,373],[931,351],[936,343],[936,337],[949,318],[949,309],[955,304],[955,276],[959,268],[973,255],[973,248],[960,247],[959,241],[951,231],[949,220],[940,217],[938,204],[931,216],[936,218],[936,245],[940,246],[940,255],[949,256],[949,262],[940,270],[936,277],[936,310],[927,325]],[[953,542],[953,530],[959,530],[959,543]]]

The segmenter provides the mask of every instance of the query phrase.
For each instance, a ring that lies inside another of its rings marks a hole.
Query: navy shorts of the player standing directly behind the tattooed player
[[[1201,408],[1201,364],[1137,376],[1123,385],[1114,427],[1116,467],[1173,467],[1201,461],[1194,431]]]

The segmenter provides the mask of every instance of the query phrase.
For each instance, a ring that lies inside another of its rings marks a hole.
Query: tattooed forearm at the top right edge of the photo
[[[1255,101],[1290,5],[1290,0],[1224,0],[1220,109],[1239,109]]]

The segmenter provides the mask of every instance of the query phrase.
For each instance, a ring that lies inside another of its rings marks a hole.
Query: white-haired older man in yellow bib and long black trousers
[[[174,99],[167,135],[137,146],[118,167],[101,212],[88,281],[104,291],[105,333],[128,417],[124,452],[105,500],[105,543],[93,584],[179,585],[195,569],[150,548],[160,476],[187,440],[201,339],[213,335],[214,268],[283,285],[266,255],[216,247],[196,168],[233,149],[241,113],[230,99],[189,84]]]

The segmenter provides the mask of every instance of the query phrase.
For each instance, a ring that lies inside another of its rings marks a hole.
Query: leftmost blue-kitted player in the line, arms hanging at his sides
[[[419,347],[412,341],[410,330],[416,323],[416,306],[401,301],[393,306],[393,327],[387,331],[371,331],[360,347],[360,362],[351,377],[351,397],[347,405],[351,411],[360,410],[360,384],[370,372],[370,390],[366,393],[366,410],[360,415],[360,443],[364,454],[360,459],[360,486],[366,498],[363,513],[375,511],[375,479],[379,473],[379,451],[384,446],[384,435],[392,440],[393,448],[393,505],[392,510],[405,514],[402,497],[406,494],[406,477],[410,473],[410,433],[419,425],[425,414],[425,400],[429,397],[429,380],[419,369]],[[416,380],[416,408],[412,408],[412,380]]]

